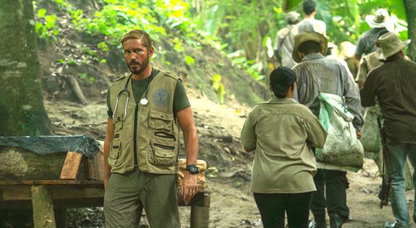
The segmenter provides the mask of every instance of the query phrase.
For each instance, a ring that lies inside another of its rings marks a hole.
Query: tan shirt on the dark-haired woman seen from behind
[[[327,133],[308,107],[291,98],[272,98],[254,107],[241,131],[245,148],[254,149],[251,191],[315,191],[315,156]]]

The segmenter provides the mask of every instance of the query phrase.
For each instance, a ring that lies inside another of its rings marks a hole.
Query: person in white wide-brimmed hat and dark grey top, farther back
[[[379,34],[383,30],[387,30],[386,27],[389,24],[388,12],[384,9],[376,10],[374,15],[368,15],[365,17],[365,21],[371,29],[363,33],[363,35],[361,35],[360,39],[358,40],[355,53],[356,59],[358,61],[361,60],[361,56],[376,51],[376,46],[374,46],[374,43],[379,37]]]

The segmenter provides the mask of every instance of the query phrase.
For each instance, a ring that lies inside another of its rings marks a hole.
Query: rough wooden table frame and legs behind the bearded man
[[[95,180],[0,181],[0,209],[33,209],[35,228],[66,226],[67,207],[103,207],[103,182]],[[209,227],[210,194],[198,191],[191,207],[191,228]],[[56,216],[56,218],[55,218]]]

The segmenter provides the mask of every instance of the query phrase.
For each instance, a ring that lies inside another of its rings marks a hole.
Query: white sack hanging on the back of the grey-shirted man
[[[343,98],[335,94],[320,93],[319,120],[327,131],[324,148],[316,148],[315,156],[324,164],[351,170],[363,167],[363,146],[352,125],[354,116],[345,107]]]

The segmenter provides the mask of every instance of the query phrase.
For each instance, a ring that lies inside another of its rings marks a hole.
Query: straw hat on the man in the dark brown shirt
[[[395,53],[398,53],[408,46],[409,43],[410,40],[401,41],[395,33],[385,33],[379,37],[380,48],[377,49],[377,58],[384,60],[395,55]]]

